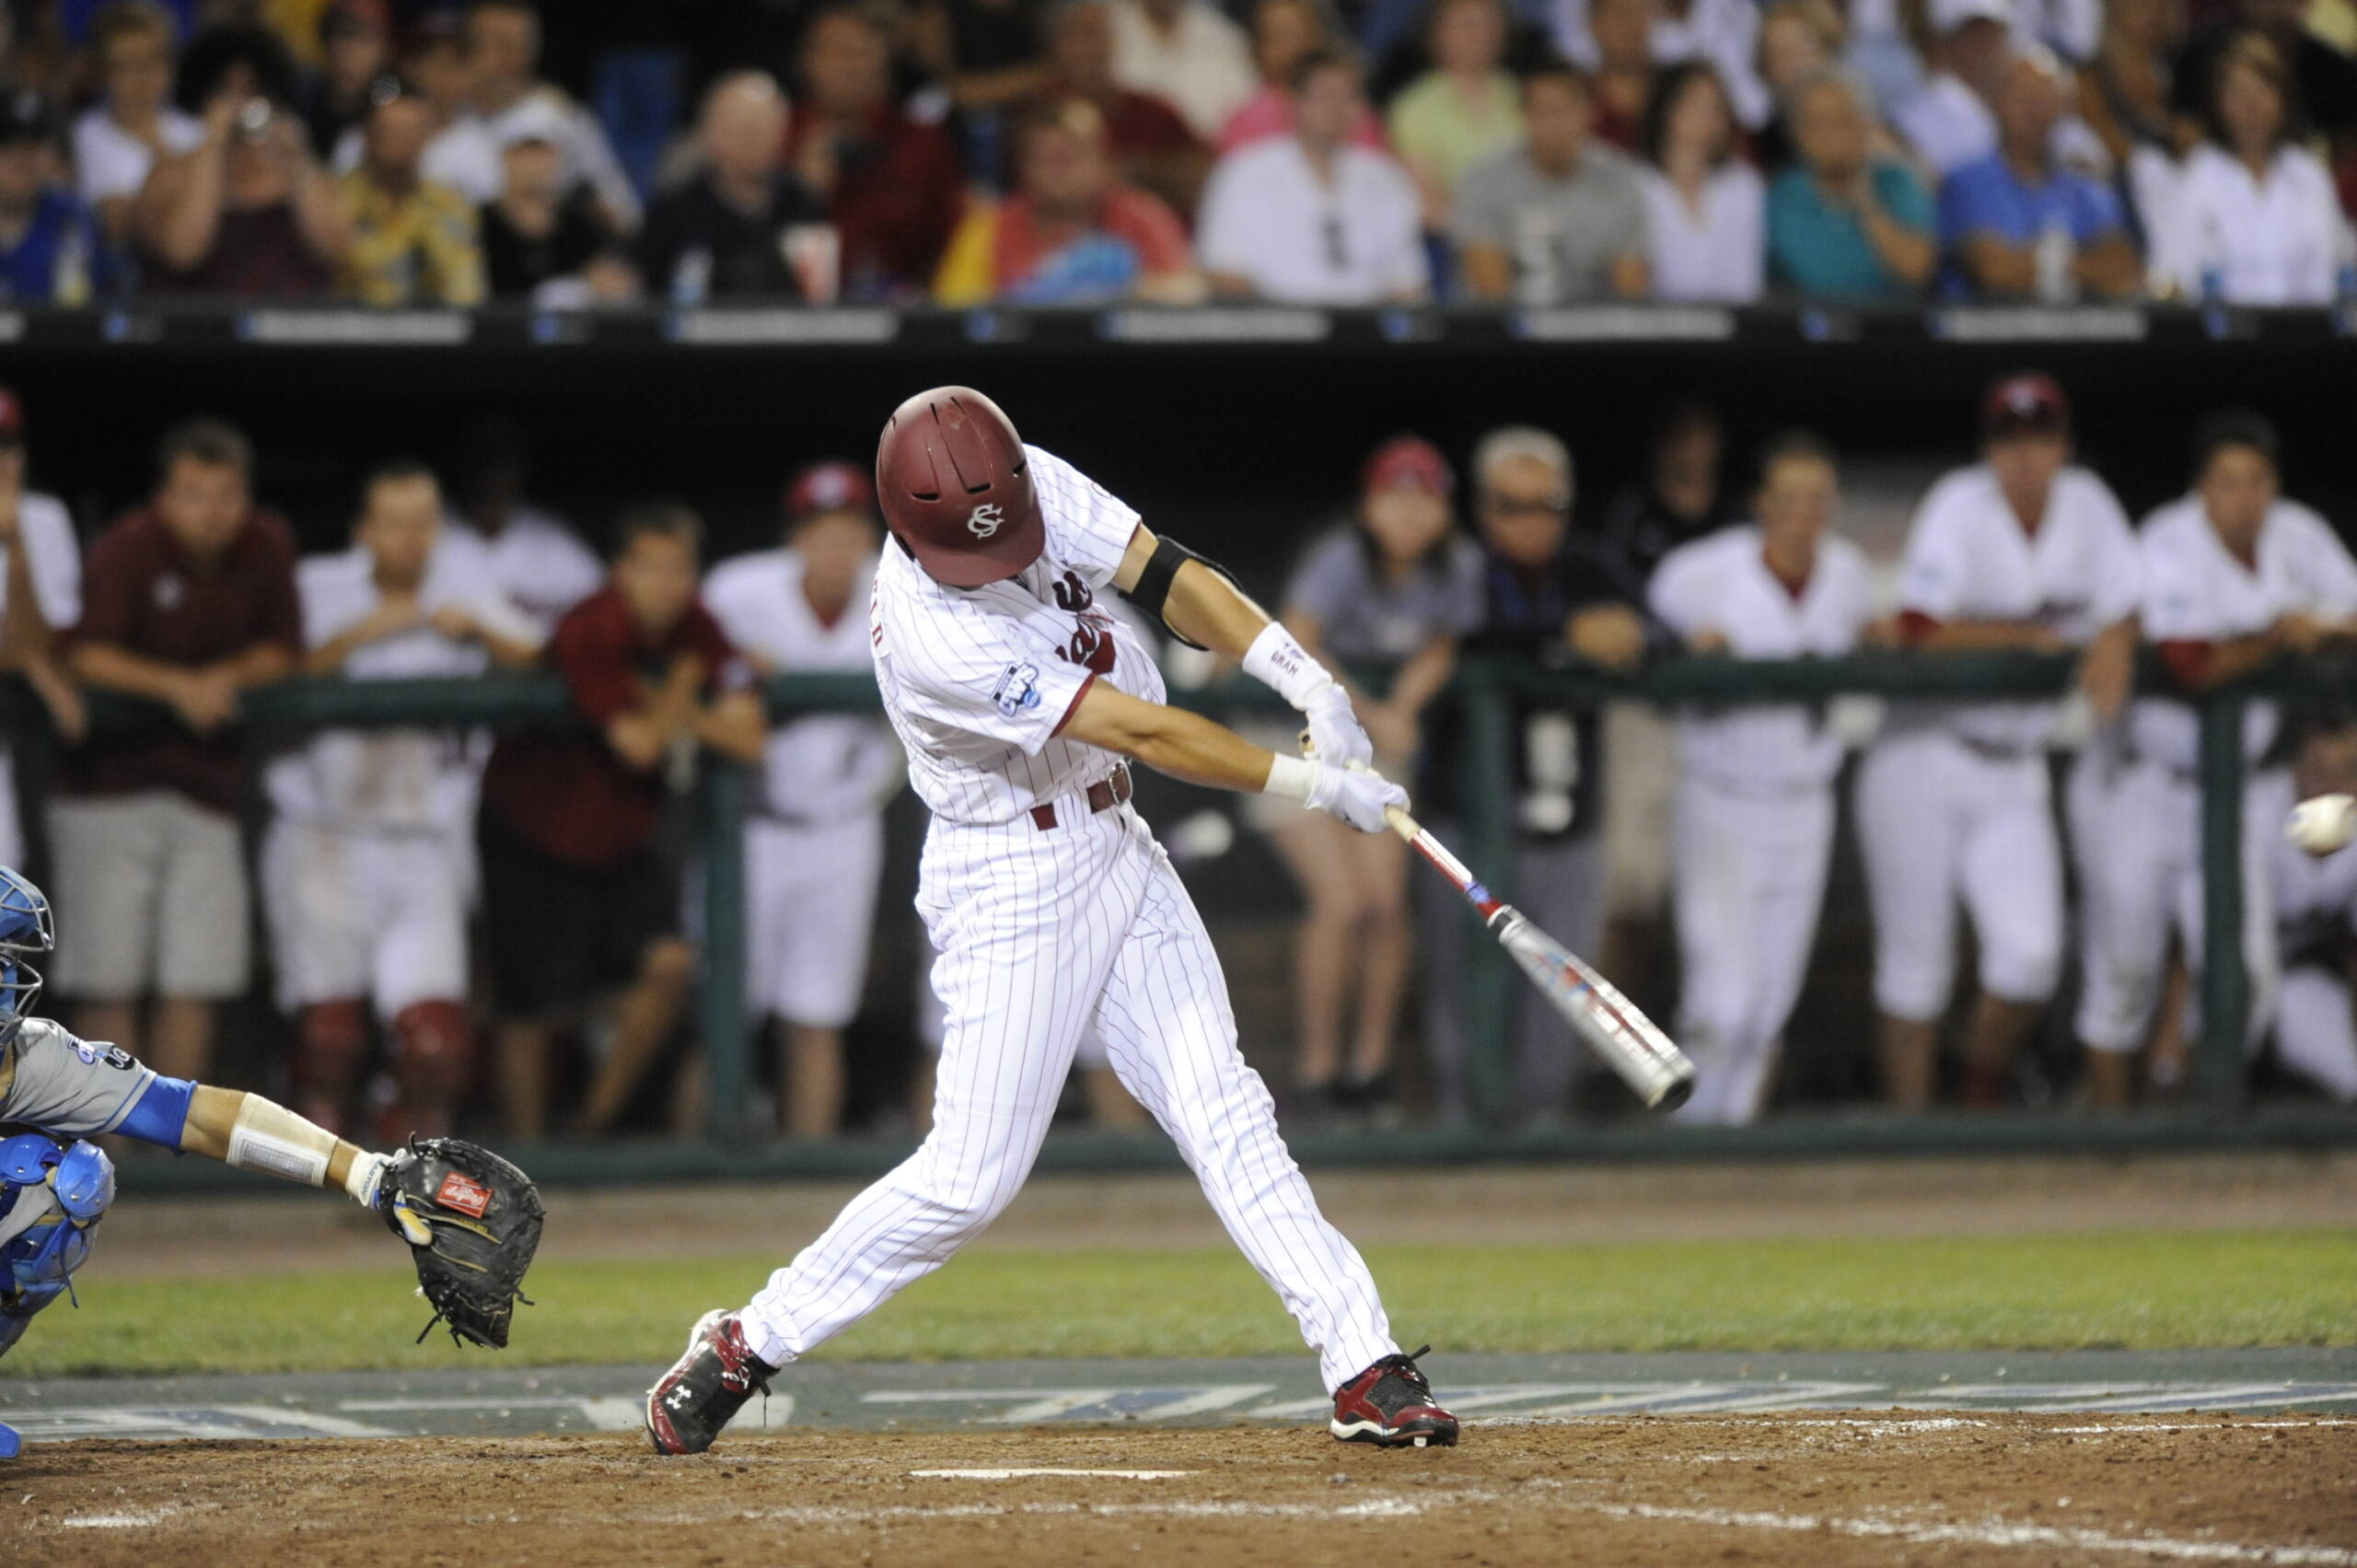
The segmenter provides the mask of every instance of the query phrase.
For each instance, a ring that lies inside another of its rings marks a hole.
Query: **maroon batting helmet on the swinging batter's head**
[[[893,410],[877,441],[884,523],[950,587],[1016,575],[1047,547],[1030,460],[997,403],[933,387]]]

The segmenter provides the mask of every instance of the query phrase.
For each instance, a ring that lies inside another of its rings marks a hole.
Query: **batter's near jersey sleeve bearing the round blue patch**
[[[886,615],[884,648],[900,710],[1037,757],[1096,677],[1023,646],[983,611],[962,611],[952,606],[912,630]]]

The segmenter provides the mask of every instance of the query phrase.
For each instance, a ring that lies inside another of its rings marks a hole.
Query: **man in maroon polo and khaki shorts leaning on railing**
[[[205,1075],[212,1004],[250,979],[238,698],[302,653],[295,533],[255,507],[250,474],[252,448],[226,424],[165,434],[156,498],[90,549],[68,653],[82,684],[174,719],[66,752],[49,806],[57,903],[80,931],[59,948],[57,988],[82,1002],[85,1040],[167,1078]]]

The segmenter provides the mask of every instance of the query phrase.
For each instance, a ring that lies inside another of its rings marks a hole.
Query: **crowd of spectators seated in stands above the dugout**
[[[559,85],[530,0],[0,5],[0,297],[2357,292],[2322,0],[764,12]]]

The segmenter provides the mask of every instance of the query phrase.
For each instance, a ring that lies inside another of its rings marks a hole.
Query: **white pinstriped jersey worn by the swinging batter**
[[[1113,773],[1113,752],[1056,731],[1091,679],[1160,703],[1162,672],[1096,606],[1138,514],[1070,462],[1025,446],[1047,545],[1004,582],[943,587],[900,547],[884,552],[870,641],[907,778],[948,823],[1011,823]]]

